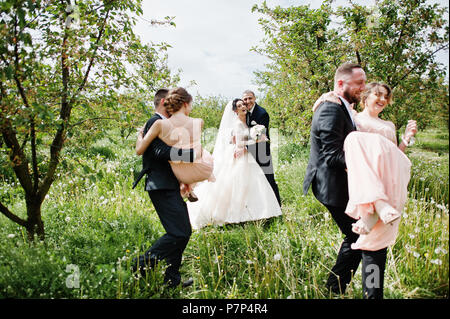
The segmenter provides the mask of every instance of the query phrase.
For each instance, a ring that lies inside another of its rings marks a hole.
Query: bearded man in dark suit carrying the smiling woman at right
[[[321,103],[314,113],[311,125],[311,149],[303,192],[306,194],[309,186],[312,186],[314,196],[330,211],[345,235],[327,281],[327,287],[334,293],[345,292],[361,262],[361,251],[350,247],[359,236],[352,232],[352,223],[356,220],[345,213],[349,196],[344,140],[350,132],[356,130],[350,105],[360,101],[365,83],[366,75],[360,65],[341,65],[334,78],[334,92],[341,103]]]

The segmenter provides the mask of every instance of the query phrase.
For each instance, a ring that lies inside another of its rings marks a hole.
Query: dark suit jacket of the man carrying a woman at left
[[[144,135],[156,120],[162,119],[158,114],[153,115],[145,124]],[[169,160],[182,160],[184,162],[193,162],[193,150],[181,150],[168,146],[159,138],[154,139],[142,156],[142,171],[133,184],[133,188],[139,183],[140,179],[147,174],[145,181],[145,190],[152,191],[157,189],[175,189],[180,188],[180,183],[173,174]]]

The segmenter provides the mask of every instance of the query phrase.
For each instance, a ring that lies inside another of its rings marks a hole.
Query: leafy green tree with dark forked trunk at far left
[[[0,16],[0,156],[27,194],[28,219],[1,212],[44,236],[40,207],[63,145],[89,149],[105,130],[129,136],[148,117],[156,88],[177,81],[167,44],[146,45],[134,34],[141,0],[3,1]],[[157,24],[172,24],[166,18]],[[91,149],[107,158],[106,149]],[[2,162],[1,174],[10,178]],[[0,203],[2,204],[2,203]]]

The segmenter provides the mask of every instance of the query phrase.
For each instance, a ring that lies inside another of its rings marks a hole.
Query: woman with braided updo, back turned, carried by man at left
[[[168,119],[157,120],[142,139],[136,143],[136,153],[143,154],[148,145],[157,137],[169,146],[193,148],[197,155],[193,163],[169,162],[172,171],[181,183],[182,196],[190,201],[198,200],[192,188],[195,183],[215,181],[212,155],[201,146],[203,120],[189,117],[192,110],[192,96],[184,88],[169,91],[164,106],[170,115]]]

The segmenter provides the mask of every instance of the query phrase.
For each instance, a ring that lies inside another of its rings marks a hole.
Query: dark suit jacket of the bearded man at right
[[[311,125],[311,148],[303,181],[304,194],[311,185],[314,196],[322,204],[347,206],[344,140],[355,129],[342,100],[341,104],[325,101],[319,106]]]

